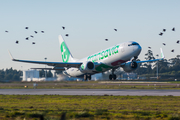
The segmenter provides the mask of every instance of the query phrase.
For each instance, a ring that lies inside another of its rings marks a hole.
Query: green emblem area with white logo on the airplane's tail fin
[[[69,60],[69,50],[64,42],[61,44],[61,55],[63,62],[68,62]]]

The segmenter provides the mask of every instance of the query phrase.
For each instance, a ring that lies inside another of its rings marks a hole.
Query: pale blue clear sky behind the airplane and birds
[[[44,67],[13,62],[8,50],[16,59],[62,62],[60,34],[77,59],[126,41],[141,45],[140,60],[149,46],[154,55],[162,47],[166,59],[174,58],[180,54],[179,5],[179,0],[1,0],[0,69]],[[34,38],[25,40],[30,35]]]

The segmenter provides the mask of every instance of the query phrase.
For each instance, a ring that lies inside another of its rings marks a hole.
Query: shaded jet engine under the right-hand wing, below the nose
[[[128,62],[123,66],[123,70],[125,72],[132,72],[138,68],[138,63],[137,62]]]

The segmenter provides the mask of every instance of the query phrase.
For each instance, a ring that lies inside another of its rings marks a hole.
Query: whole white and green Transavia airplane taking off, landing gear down
[[[62,70],[63,74],[69,77],[80,77],[84,80],[91,80],[91,76],[97,73],[103,73],[112,69],[109,75],[110,80],[116,80],[114,71],[122,67],[125,72],[132,72],[139,67],[139,63],[153,62],[164,59],[164,54],[161,51],[161,58],[154,60],[136,61],[140,52],[141,46],[135,41],[128,41],[121,44],[116,44],[100,52],[89,55],[83,59],[76,59],[72,56],[68,46],[63,37],[59,35],[60,50],[63,62],[47,62],[47,61],[31,61],[14,59],[9,52],[12,61],[46,64],[53,66],[53,68],[36,68],[36,69],[51,69]]]

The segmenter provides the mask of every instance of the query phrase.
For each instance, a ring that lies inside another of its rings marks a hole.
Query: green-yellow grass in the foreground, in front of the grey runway
[[[6,120],[179,118],[176,96],[0,95],[0,119]]]

